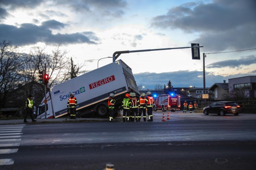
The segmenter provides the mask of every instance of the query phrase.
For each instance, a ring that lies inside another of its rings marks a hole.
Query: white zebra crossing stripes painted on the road
[[[18,152],[19,149],[16,147],[20,146],[20,143],[17,143],[17,141],[21,141],[21,135],[23,134],[21,132],[24,126],[25,124],[0,126],[0,155]],[[8,159],[0,159],[0,166],[13,163],[14,160],[9,159],[9,156]]]

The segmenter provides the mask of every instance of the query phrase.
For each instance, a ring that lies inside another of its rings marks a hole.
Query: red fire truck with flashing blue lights
[[[154,111],[161,109],[162,111],[170,110],[172,112],[175,112],[176,110],[179,110],[180,107],[181,107],[181,96],[178,94],[176,95],[162,94],[160,96],[154,97],[154,104],[153,104]]]

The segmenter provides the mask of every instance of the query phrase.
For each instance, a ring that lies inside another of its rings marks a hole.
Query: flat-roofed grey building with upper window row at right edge
[[[256,76],[245,76],[228,79],[229,95],[237,90],[243,90],[247,98],[256,98]]]

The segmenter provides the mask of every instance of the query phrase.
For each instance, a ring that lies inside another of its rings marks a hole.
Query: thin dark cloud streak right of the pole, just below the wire
[[[229,59],[225,61],[218,61],[215,63],[211,63],[207,65],[207,68],[222,68],[222,67],[230,67],[230,68],[239,68],[243,65],[251,65],[256,63],[256,56],[249,55],[247,57],[242,57],[241,59]]]

